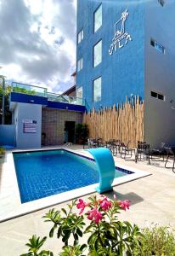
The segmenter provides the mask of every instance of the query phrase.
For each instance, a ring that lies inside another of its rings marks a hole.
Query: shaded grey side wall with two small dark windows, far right
[[[144,139],[152,145],[175,145],[175,3],[158,1],[147,4],[145,16],[145,114]],[[150,38],[166,48],[163,55],[150,45]],[[160,92],[165,101],[150,96]],[[171,103],[172,101],[172,103]]]

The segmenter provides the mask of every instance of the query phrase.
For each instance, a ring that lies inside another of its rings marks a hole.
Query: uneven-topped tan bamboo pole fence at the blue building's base
[[[103,108],[99,111],[84,113],[83,123],[89,128],[89,137],[100,137],[105,141],[119,139],[136,147],[138,141],[144,141],[144,102],[135,97],[121,106]]]

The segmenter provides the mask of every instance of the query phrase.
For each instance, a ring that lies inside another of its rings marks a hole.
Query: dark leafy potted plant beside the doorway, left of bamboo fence
[[[76,143],[84,144],[88,140],[88,125],[87,124],[76,124]]]

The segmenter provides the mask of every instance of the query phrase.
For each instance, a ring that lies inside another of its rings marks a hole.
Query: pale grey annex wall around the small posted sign
[[[24,133],[23,120],[25,119],[37,121],[37,133]],[[14,109],[14,122],[17,148],[41,147],[42,105],[17,103],[17,107]]]

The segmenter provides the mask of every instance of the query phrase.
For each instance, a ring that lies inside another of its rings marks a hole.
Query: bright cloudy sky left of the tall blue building
[[[76,0],[0,0],[0,74],[63,92],[76,69]]]

